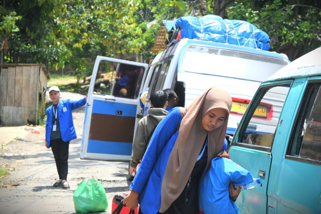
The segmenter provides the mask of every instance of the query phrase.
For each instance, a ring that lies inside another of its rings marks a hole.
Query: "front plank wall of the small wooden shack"
[[[26,118],[37,122],[39,66],[15,66],[1,69],[1,125],[25,125]]]

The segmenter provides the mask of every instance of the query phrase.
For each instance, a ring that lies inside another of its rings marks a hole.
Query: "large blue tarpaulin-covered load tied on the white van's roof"
[[[200,39],[269,50],[269,35],[247,21],[222,19],[217,15],[180,17],[175,21],[181,38]]]

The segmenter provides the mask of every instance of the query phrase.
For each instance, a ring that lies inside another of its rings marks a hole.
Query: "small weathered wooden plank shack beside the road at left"
[[[48,79],[44,64],[0,64],[0,125],[38,124]]]

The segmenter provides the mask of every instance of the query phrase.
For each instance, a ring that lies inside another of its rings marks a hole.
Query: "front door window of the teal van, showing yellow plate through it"
[[[247,128],[240,135],[242,136],[240,142],[269,149],[272,146],[275,129],[289,92],[289,85],[266,88],[264,91],[264,96],[262,95],[262,99],[256,105],[249,123],[244,126]],[[240,110],[247,108],[243,105],[245,104],[238,105]]]

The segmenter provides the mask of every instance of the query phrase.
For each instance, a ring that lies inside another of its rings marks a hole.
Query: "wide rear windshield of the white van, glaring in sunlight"
[[[186,72],[265,81],[288,64],[271,56],[213,47],[189,46],[182,61]]]

